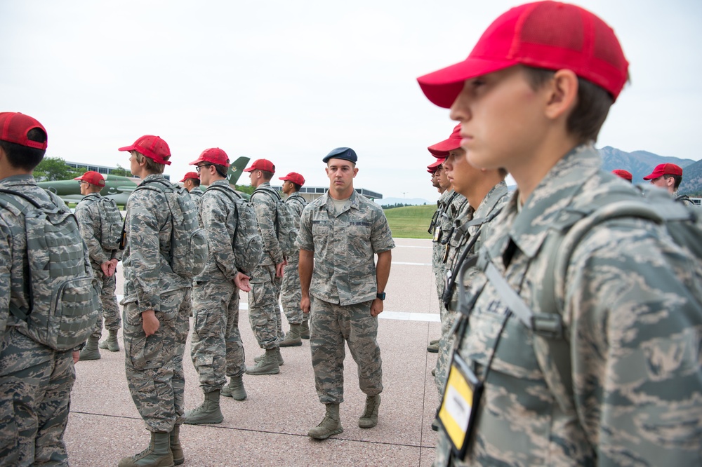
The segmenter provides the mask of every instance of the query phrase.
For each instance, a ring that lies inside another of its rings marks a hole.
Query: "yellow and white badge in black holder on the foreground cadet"
[[[483,384],[465,360],[453,352],[449,378],[439,406],[439,422],[449,435],[453,454],[463,459],[471,442],[475,415],[482,396]]]

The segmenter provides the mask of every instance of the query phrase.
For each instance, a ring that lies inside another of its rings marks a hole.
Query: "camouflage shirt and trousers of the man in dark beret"
[[[319,401],[343,402],[344,341],[358,365],[366,395],[383,391],[373,255],[395,248],[388,220],[376,203],[354,191],[342,212],[329,194],[312,201],[300,219],[296,245],[314,252],[310,283],[310,348]]]

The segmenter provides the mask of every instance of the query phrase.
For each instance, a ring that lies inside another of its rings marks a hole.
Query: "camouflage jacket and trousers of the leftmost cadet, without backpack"
[[[42,203],[50,200],[32,175],[7,177],[0,187]],[[25,323],[9,311],[11,302],[29,309],[25,262],[25,217],[0,209],[0,463],[67,466],[63,433],[75,381],[73,359],[71,351],[53,351],[22,334]]]

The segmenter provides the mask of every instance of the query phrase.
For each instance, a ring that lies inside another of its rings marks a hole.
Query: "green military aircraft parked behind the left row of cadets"
[[[249,160],[248,157],[240,157],[230,165],[229,172],[227,172],[227,180],[230,184],[237,184]],[[121,177],[120,175],[103,174],[102,177],[105,177],[105,188],[100,191],[100,194],[105,198],[114,199],[115,203],[123,206],[126,205],[129,195],[140,182],[138,178]],[[65,203],[78,203],[83,199],[80,185],[75,180],[54,180],[53,182],[39,182],[37,185],[58,194]],[[206,186],[202,186],[203,191],[206,188]]]

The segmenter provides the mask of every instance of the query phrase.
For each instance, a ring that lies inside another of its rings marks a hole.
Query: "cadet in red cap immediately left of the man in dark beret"
[[[283,182],[283,193],[288,197],[285,200],[289,206],[293,217],[295,217],[295,228],[300,228],[300,216],[307,205],[307,201],[300,194],[300,188],[305,184],[305,177],[298,172],[290,172],[285,177],[278,177]],[[310,339],[310,315],[303,313],[300,308],[300,272],[298,264],[300,262],[299,250],[295,255],[287,258],[288,264],[283,267],[283,283],[280,287],[280,301],[283,304],[285,317],[290,325],[290,332],[285,339],[280,342],[281,347],[301,346],[302,340]]]

